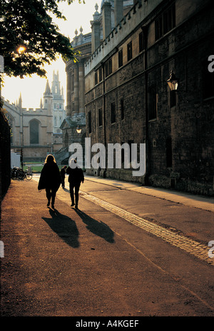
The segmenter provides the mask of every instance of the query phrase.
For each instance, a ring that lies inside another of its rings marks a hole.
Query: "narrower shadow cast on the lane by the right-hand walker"
[[[86,228],[89,231],[91,231],[91,233],[94,233],[95,235],[98,235],[99,237],[105,239],[106,241],[108,241],[108,243],[114,243],[114,239],[113,239],[114,233],[111,230],[111,228],[109,228],[109,226],[106,225],[106,223],[91,218],[90,216],[88,216],[86,213],[83,213],[83,211],[79,209],[74,209],[74,210],[83,220],[83,223],[87,225]]]

